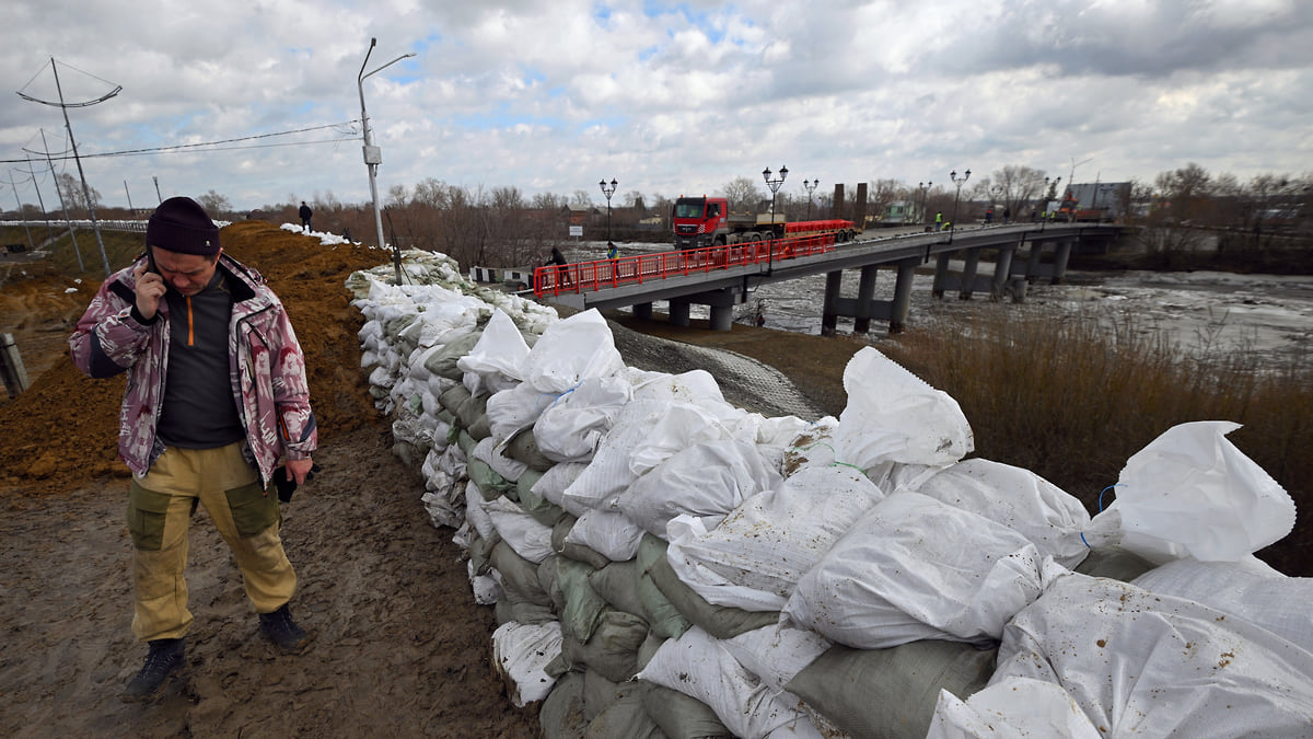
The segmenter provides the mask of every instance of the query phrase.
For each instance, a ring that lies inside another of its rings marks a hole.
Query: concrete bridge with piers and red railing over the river
[[[651,317],[653,302],[670,302],[670,322],[689,325],[689,306],[710,309],[710,327],[729,330],[734,305],[746,302],[758,285],[826,275],[821,333],[834,334],[840,316],[864,334],[871,321],[886,321],[889,333],[906,327],[911,283],[918,267],[935,262],[935,297],[956,291],[966,300],[983,292],[993,300],[1022,301],[1025,283],[1062,280],[1067,258],[1079,243],[1106,249],[1123,226],[1112,224],[1015,224],[905,233],[836,245],[834,235],[771,239],[687,251],[664,251],[540,267],[533,293],[546,301],[586,310],[633,306],[634,316]],[[991,274],[979,274],[981,254],[995,251]],[[1050,256],[1045,259],[1045,254]],[[962,262],[960,271],[952,260]],[[880,268],[895,271],[893,295],[876,297]],[[844,270],[860,270],[856,296],[842,295]]]

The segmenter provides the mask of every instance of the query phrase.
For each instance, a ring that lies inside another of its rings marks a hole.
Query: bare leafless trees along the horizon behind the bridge
[[[58,175],[56,184],[59,203],[43,203],[45,210],[24,204],[21,213],[14,216],[62,220],[67,212],[68,218],[76,220],[88,216],[89,205],[95,205],[102,218],[144,218],[150,213],[150,208],[135,212],[102,208],[95,188],[89,188],[88,203],[88,193],[71,174]],[[1061,201],[1070,187],[1062,183],[1062,175],[1048,176],[1043,170],[1010,164],[986,175],[977,174],[960,183],[960,188],[947,176],[915,184],[873,179],[867,183],[864,208],[859,208],[853,203],[857,188],[852,185],[844,187],[840,196],[832,183],[814,187],[813,192],[802,184],[785,184],[792,187],[773,195],[773,208],[789,221],[856,220],[857,213],[865,213],[869,216],[867,225],[877,224],[878,217],[898,203],[910,205],[913,222],[928,224],[936,212],[943,212],[947,220],[955,210],[957,222],[974,222],[989,208],[995,209],[997,217],[1007,210],[1014,220],[1023,221]],[[1271,172],[1241,180],[1226,172],[1209,174],[1190,163],[1159,172],[1152,181],[1132,180],[1127,185],[1116,191],[1123,200],[1116,212],[1125,222],[1145,226],[1137,230],[1137,238],[1149,254],[1187,254],[1205,242],[1215,243],[1222,254],[1309,249],[1313,172]],[[735,212],[767,213],[772,208],[772,193],[764,181],[754,178],[733,179],[720,192],[708,195],[726,197]],[[315,212],[315,230],[368,243],[377,241],[372,204],[343,203],[331,191],[312,196],[289,193],[285,203],[249,212],[235,210],[226,196],[213,189],[194,197],[217,220],[264,218],[280,224],[298,224],[297,208],[306,200]],[[608,208],[599,200],[599,193],[586,189],[527,196],[513,185],[471,188],[428,178],[387,191],[383,241],[402,249],[441,251],[463,266],[530,266],[540,263],[553,246],[571,245],[570,224],[583,225],[586,241],[605,241]],[[637,189],[616,193],[611,201],[611,237],[621,243],[668,241],[672,205],[674,199],[664,195],[647,196]]]

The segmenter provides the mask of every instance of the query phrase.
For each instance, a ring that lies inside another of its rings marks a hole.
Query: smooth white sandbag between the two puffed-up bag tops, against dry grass
[[[1090,547],[1081,533],[1090,513],[1074,496],[1029,469],[987,459],[964,459],[915,490],[940,502],[978,513],[1031,540],[1041,556],[1074,569]]]

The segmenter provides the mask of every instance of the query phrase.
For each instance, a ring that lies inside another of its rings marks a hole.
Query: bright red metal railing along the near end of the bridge
[[[729,246],[709,246],[683,251],[660,251],[616,259],[593,262],[572,262],[569,264],[548,264],[533,271],[533,295],[536,297],[561,295],[563,292],[595,292],[626,284],[641,284],[666,277],[712,272],[760,264],[763,262],[784,262],[798,256],[834,251],[835,234],[815,234],[796,238],[780,238]]]

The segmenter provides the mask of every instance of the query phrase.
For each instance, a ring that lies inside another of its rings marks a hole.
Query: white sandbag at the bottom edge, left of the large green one
[[[777,696],[696,626],[662,643],[638,679],[706,703],[734,736],[762,739],[783,726],[793,726],[796,736],[821,736],[815,727],[804,728],[811,719],[796,707],[796,698]]]

